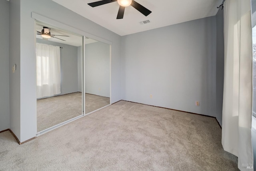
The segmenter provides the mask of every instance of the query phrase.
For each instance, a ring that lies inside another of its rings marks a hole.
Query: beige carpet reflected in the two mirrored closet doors
[[[86,113],[110,104],[110,98],[86,94]],[[82,114],[82,93],[37,100],[37,131],[42,131]]]

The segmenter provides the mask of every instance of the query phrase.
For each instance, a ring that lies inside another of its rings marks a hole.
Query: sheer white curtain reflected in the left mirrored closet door
[[[60,47],[36,43],[37,98],[60,93]]]

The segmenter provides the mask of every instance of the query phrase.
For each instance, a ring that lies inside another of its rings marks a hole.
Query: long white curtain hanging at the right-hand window
[[[250,0],[224,2],[224,53],[222,145],[238,157],[241,171],[253,170]]]

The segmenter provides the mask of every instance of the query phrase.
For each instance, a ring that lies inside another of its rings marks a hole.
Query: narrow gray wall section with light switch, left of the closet
[[[10,24],[9,24],[9,95],[10,95],[10,129],[18,139],[21,137],[20,115],[20,1],[10,0]],[[16,71],[12,73],[12,66],[16,64]],[[32,67],[34,68],[34,67]],[[23,83],[25,84],[25,83]],[[26,107],[29,107],[27,105]],[[24,114],[23,114],[24,115]],[[33,118],[33,117],[32,117]],[[29,120],[29,119],[28,119]],[[36,118],[35,118],[36,121]],[[28,121],[29,122],[29,121]],[[24,121],[24,124],[28,124]]]

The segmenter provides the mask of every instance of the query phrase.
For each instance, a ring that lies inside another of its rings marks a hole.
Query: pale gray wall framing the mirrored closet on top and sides
[[[16,9],[15,12],[14,3],[20,4],[20,8]],[[18,33],[26,33],[18,34],[16,42],[10,41],[10,46],[16,47],[17,50],[20,49],[20,53],[16,55],[10,54],[10,58],[15,59],[18,63],[18,68],[20,68],[20,75],[15,81],[15,87],[11,88],[10,86],[10,91],[20,90],[15,97],[10,95],[10,104],[12,104],[13,107],[12,111],[10,111],[10,115],[17,118],[20,117],[20,126],[16,126],[18,130],[15,131],[15,134],[18,134],[18,131],[20,131],[20,136],[17,137],[21,142],[36,135],[36,73],[34,72],[36,70],[36,60],[34,58],[36,40],[35,20],[31,18],[32,12],[72,26],[83,32],[90,33],[90,35],[95,35],[92,37],[94,39],[98,37],[112,42],[112,102],[114,103],[121,99],[121,37],[119,35],[114,34],[106,28],[99,26],[51,0],[44,0],[44,3],[40,0],[22,0],[21,2],[20,0],[10,0],[10,4],[13,4],[10,5],[11,11],[17,14],[17,19],[20,18],[20,22],[16,23],[17,26],[14,30]],[[12,22],[14,22],[15,19],[12,18],[12,20]],[[14,31],[11,33],[14,33]],[[13,62],[10,62],[10,64],[12,63]],[[19,74],[19,71],[16,74]],[[11,77],[10,80],[12,80]],[[16,97],[18,97],[20,101],[16,100]],[[11,125],[14,123],[15,121],[11,120]]]

